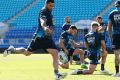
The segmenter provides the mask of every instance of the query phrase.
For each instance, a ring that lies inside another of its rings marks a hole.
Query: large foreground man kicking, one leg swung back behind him
[[[43,49],[52,56],[52,64],[54,68],[55,80],[60,80],[66,77],[66,73],[59,73],[58,70],[58,50],[53,41],[54,24],[52,10],[54,7],[54,0],[46,0],[44,7],[40,10],[38,22],[39,26],[36,35],[30,42],[24,55],[29,56],[37,49]]]

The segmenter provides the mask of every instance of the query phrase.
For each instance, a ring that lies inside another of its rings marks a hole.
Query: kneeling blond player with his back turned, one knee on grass
[[[105,41],[101,33],[97,31],[99,24],[97,22],[91,23],[91,31],[85,36],[85,46],[88,49],[88,58],[90,59],[90,65],[87,70],[74,70],[71,74],[92,74],[100,59],[100,49],[103,53],[106,53]]]

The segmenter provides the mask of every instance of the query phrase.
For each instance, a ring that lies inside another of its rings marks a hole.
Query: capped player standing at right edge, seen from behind
[[[118,77],[119,63],[120,63],[120,0],[115,2],[116,10],[113,10],[109,15],[108,33],[112,41],[114,54],[115,54],[115,74],[113,76]],[[113,29],[113,30],[112,30]]]

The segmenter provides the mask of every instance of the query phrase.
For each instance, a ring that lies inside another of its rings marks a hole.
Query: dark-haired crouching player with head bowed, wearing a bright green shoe
[[[79,49],[79,48],[75,48],[75,47],[80,47],[80,45],[77,44],[73,40],[73,36],[76,33],[77,33],[77,28],[76,28],[76,26],[72,25],[72,26],[70,26],[68,31],[63,32],[59,38],[59,46],[65,52],[65,54],[68,56],[67,63],[65,63],[65,64],[60,63],[60,66],[62,68],[68,69],[70,58],[73,55],[77,55],[77,54],[80,54],[80,62],[82,63],[81,68],[87,68],[87,66],[84,64],[84,52],[83,52],[83,50]]]

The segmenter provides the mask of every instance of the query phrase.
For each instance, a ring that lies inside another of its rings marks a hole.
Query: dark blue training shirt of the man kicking
[[[46,20],[46,26],[48,26],[51,30],[54,30],[53,15],[52,15],[51,11],[45,9],[44,7],[40,10],[39,17],[38,17],[39,26],[37,29],[37,36],[38,37],[52,38],[51,35],[45,34],[45,31],[41,26],[41,22],[40,22],[41,18]]]

